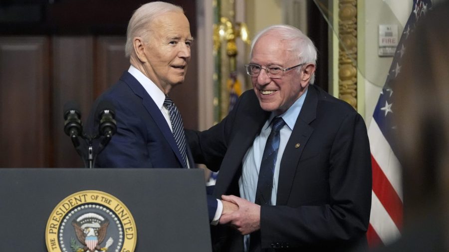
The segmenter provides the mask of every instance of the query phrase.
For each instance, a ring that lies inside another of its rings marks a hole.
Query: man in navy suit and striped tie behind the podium
[[[117,133],[98,154],[95,166],[195,167],[181,114],[168,96],[184,82],[192,43],[189,20],[181,7],[156,1],[134,12],[125,45],[131,66],[96,100],[90,114],[88,125],[96,132],[100,123],[97,107],[108,101],[115,107],[117,122]],[[209,219],[218,222],[231,205],[208,198]]]

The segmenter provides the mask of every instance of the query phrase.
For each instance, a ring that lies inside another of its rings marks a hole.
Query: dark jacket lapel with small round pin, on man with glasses
[[[296,119],[295,126],[282,155],[276,205],[286,205],[297,170],[297,164],[314,130],[309,124],[316,118],[318,95],[313,86],[309,86],[308,89],[301,112]]]

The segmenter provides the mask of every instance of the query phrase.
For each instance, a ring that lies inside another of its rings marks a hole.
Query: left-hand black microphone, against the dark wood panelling
[[[78,136],[82,135],[83,123],[81,122],[81,113],[79,104],[75,101],[69,101],[64,104],[64,132],[72,139],[75,147],[79,146]]]

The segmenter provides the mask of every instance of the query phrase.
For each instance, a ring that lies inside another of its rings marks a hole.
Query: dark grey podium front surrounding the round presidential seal
[[[203,170],[143,168],[0,169],[1,251],[47,251],[45,229],[54,208],[90,190],[128,208],[137,229],[135,252],[212,251]]]

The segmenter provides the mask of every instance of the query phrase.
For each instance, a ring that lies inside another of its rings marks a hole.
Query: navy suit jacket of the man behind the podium
[[[170,127],[151,96],[129,72],[105,91],[92,106],[88,120],[91,134],[98,132],[97,106],[108,100],[115,107],[117,133],[98,154],[95,167],[104,168],[187,168]],[[195,167],[189,146],[187,157]],[[217,200],[208,197],[209,219],[217,210]]]

